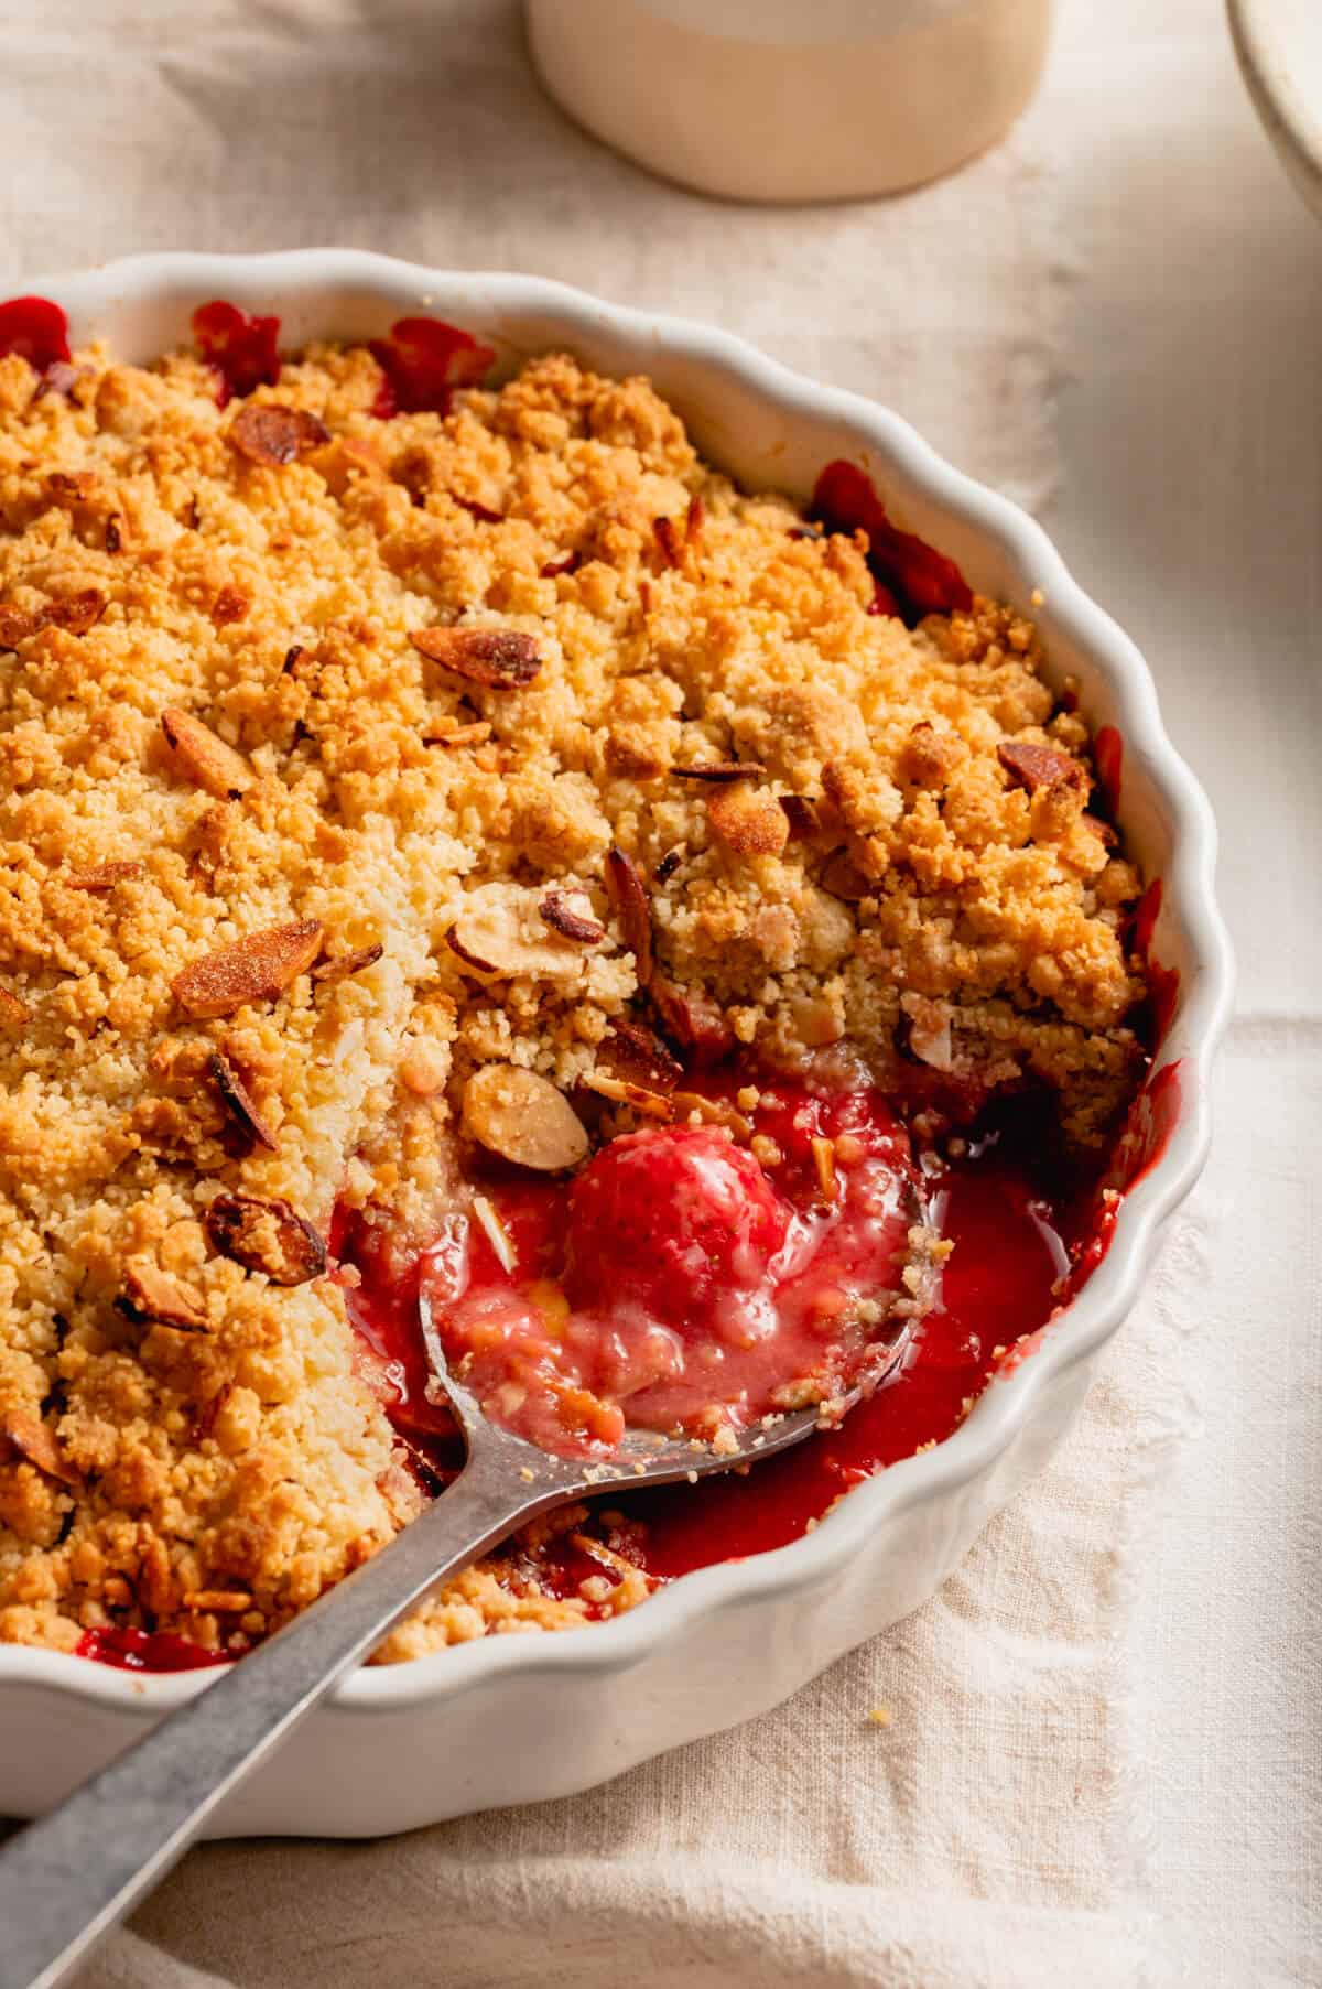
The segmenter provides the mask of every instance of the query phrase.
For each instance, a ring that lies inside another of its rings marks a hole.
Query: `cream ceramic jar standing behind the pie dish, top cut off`
[[[738,201],[897,193],[1032,99],[1052,0],[529,0],[533,60],[580,125]]]

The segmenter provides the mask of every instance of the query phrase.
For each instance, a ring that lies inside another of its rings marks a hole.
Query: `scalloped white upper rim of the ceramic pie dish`
[[[1163,863],[1165,903],[1157,949],[1171,937],[1181,953],[1181,994],[1155,1070],[1179,1060],[1181,1106],[1169,1142],[1151,1170],[1125,1193],[1111,1245],[1077,1297],[1050,1323],[1032,1358],[996,1376],[974,1402],[968,1418],[934,1450],[891,1464],[843,1498],[801,1539],[742,1561],[696,1569],[652,1595],[642,1607],[602,1623],[555,1635],[481,1637],[451,1645],[402,1665],[364,1667],[332,1695],[342,1713],[384,1713],[413,1703],[435,1703],[473,1681],[509,1675],[559,1675],[626,1671],[658,1645],[684,1635],[690,1625],[722,1605],[821,1589],[873,1536],[883,1520],[924,1500],[954,1492],[992,1470],[1034,1416],[1044,1386],[1093,1355],[1119,1327],[1155,1257],[1159,1229],[1197,1181],[1211,1144],[1211,1072],[1233,996],[1229,937],[1215,901],[1217,829],[1211,804],[1179,758],[1157,710],[1147,662],[1123,631],[1068,573],[1046,531],[1016,503],[976,483],[944,461],[901,416],[859,394],[817,386],[803,374],[763,356],[728,332],[646,310],[606,304],[549,278],[507,272],[443,272],[366,251],[304,249],[274,255],[145,255],[64,276],[34,278],[30,292],[66,306],[78,342],[113,332],[133,308],[179,306],[181,314],[211,296],[320,320],[322,336],[344,336],[336,308],[364,316],[437,308],[457,322],[493,336],[483,312],[505,312],[553,322],[567,346],[594,334],[630,344],[634,364],[650,368],[658,356],[678,358],[720,376],[734,376],[744,390],[777,410],[819,416],[851,432],[867,452],[869,469],[883,491],[899,481],[934,511],[978,537],[1024,581],[1024,595],[1042,589],[1042,625],[1048,656],[1064,634],[1097,666],[1113,698],[1115,722],[1125,742],[1127,770],[1139,768],[1157,810],[1165,812],[1169,859]],[[320,306],[318,306],[320,298]],[[495,334],[509,350],[515,340]],[[113,338],[111,338],[113,342]],[[133,340],[127,340],[133,356]],[[535,344],[545,346],[541,336]],[[666,388],[666,392],[670,392]],[[682,410],[684,412],[684,410]],[[720,446],[712,452],[720,459]],[[903,515],[903,501],[901,501]],[[936,535],[938,535],[936,527]],[[924,531],[932,531],[924,525]],[[938,541],[940,543],[940,541]],[[1085,700],[1087,702],[1087,700]],[[1121,804],[1121,817],[1125,808]],[[131,1709],[157,1717],[205,1691],[211,1671],[125,1673],[42,1647],[0,1645],[0,1685],[40,1683],[95,1707]]]

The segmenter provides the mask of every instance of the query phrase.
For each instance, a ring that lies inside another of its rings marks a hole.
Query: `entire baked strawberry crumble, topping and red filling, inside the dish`
[[[374,1553],[457,1462],[423,1281],[588,1448],[918,1323],[811,1458],[555,1514],[378,1659],[616,1613],[1046,1321],[1139,875],[1034,627],[855,465],[744,493],[646,380],[431,320],[195,332],[0,306],[0,1641],[205,1663]]]

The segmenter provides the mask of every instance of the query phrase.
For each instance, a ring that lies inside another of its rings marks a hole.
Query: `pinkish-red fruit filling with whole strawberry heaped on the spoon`
[[[423,1255],[445,1356],[493,1420],[608,1450],[851,1384],[907,1295],[909,1142],[873,1092],[773,1084],[747,1116],[761,1158],[710,1124],[626,1134],[573,1183],[493,1181],[485,1227]]]

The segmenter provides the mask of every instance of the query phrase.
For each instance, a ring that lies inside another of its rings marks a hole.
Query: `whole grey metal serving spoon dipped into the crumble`
[[[455,1412],[467,1446],[463,1470],[388,1547],[0,1850],[0,1989],[68,1981],[318,1699],[413,1603],[515,1528],[569,1500],[773,1458],[825,1420],[817,1408],[795,1410],[742,1432],[736,1450],[720,1456],[692,1440],[630,1430],[606,1462],[557,1458],[487,1422],[445,1366],[425,1295],[421,1325],[435,1374],[427,1392]],[[909,1339],[905,1323],[869,1362],[869,1392],[895,1372]],[[833,1402],[829,1420],[859,1392]]]

